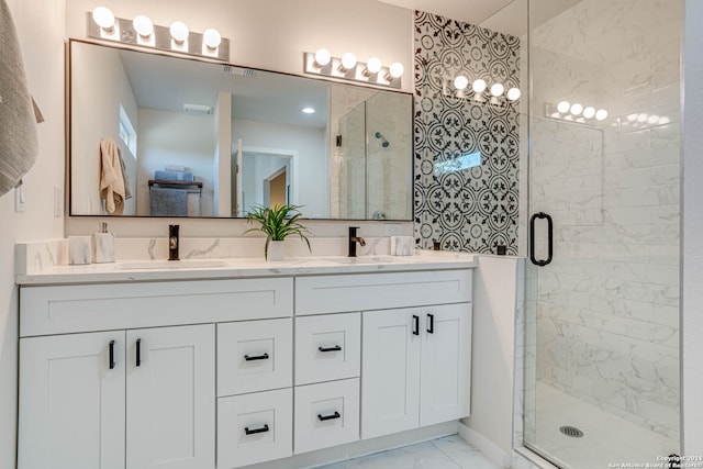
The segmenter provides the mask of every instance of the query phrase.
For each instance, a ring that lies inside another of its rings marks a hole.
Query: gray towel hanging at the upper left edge
[[[0,196],[30,170],[38,144],[32,98],[18,35],[5,0],[0,0]]]

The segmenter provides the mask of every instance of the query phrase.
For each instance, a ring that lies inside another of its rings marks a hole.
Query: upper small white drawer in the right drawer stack
[[[295,319],[295,384],[358,377],[360,361],[360,313]]]

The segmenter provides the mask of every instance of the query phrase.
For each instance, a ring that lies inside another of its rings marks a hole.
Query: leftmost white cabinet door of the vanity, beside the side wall
[[[20,469],[124,469],[124,331],[23,338],[20,370]]]

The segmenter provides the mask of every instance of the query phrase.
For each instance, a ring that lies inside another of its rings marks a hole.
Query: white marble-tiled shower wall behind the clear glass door
[[[531,43],[531,208],[555,222],[554,261],[536,287],[537,379],[672,438],[682,8],[583,0]],[[546,116],[561,100],[609,116]]]

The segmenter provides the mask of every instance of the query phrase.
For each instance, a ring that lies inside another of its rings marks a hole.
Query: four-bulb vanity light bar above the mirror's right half
[[[326,48],[317,49],[315,53],[305,52],[303,59],[305,74],[389,88],[401,88],[401,77],[405,71],[399,62],[386,67],[378,57],[371,57],[368,62],[362,63],[357,62],[356,56],[352,53],[346,53],[342,57],[333,57]]]

